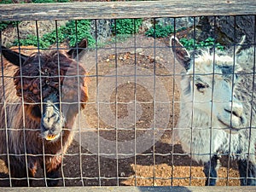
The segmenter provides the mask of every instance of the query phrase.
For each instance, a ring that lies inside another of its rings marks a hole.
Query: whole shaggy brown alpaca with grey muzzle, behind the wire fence
[[[83,40],[79,48],[85,47]],[[45,167],[47,186],[55,186],[74,120],[88,100],[84,67],[73,59],[81,49],[30,56],[1,50],[0,158],[12,186],[30,185],[37,166]]]

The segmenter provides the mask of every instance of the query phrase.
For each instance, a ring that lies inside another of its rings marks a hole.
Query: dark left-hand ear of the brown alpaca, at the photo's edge
[[[4,46],[1,46],[1,52],[7,61],[13,63],[15,66],[18,66],[18,67],[20,67],[20,65],[22,66],[23,63],[28,58],[28,56],[17,53],[10,49],[7,49]]]

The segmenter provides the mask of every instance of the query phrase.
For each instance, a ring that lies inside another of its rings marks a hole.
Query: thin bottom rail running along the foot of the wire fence
[[[37,192],[67,192],[67,191],[76,191],[76,192],[220,192],[220,191],[236,191],[236,192],[251,192],[256,191],[256,187],[247,186],[232,186],[232,187],[55,187],[55,188],[45,188],[45,187],[35,187],[35,188],[1,188],[0,191],[37,191]]]

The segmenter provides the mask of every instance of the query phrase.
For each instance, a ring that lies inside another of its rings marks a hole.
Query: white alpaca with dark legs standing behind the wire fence
[[[204,163],[206,185],[216,183],[220,154],[238,160],[241,185],[256,185],[254,49],[239,49],[235,56],[204,50],[190,56],[177,38],[170,44],[186,69],[177,124],[184,152]]]

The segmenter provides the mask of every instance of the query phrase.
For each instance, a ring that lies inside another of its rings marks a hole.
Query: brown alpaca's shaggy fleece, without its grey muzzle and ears
[[[9,166],[11,177],[27,176],[26,161],[28,174],[34,177],[37,166],[44,167],[44,158],[46,171],[56,171],[73,141],[71,129],[79,113],[78,102],[83,109],[88,101],[84,67],[64,51],[32,54],[21,69],[4,58],[0,64],[0,158]],[[41,108],[40,102],[59,90],[61,102],[77,103],[69,105],[65,113],[61,139],[49,142],[40,136],[41,119],[35,118],[33,109]]]

